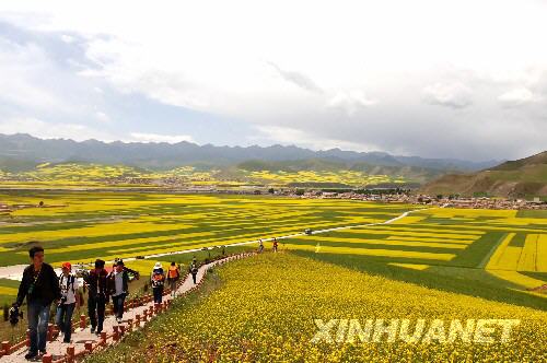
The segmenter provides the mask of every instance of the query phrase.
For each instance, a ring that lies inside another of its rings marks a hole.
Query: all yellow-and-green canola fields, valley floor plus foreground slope
[[[280,239],[280,253],[216,269],[205,289],[92,362],[545,359],[547,295],[526,290],[547,282],[544,212],[60,190],[4,191],[0,202],[25,206],[0,215],[0,266],[26,264],[32,241],[59,266],[344,227]],[[412,212],[379,224],[406,211]],[[201,260],[207,254],[196,255]],[[128,267],[148,273],[155,261],[172,259],[139,259]],[[0,292],[12,302],[16,282],[0,279]],[[434,341],[407,341],[401,326],[395,341],[374,341],[374,333],[356,341],[344,324],[334,328],[333,342],[311,341],[316,319],[363,326],[369,319],[408,319],[407,330],[415,331],[418,319],[505,318],[521,320],[508,342],[451,340],[447,330],[437,331]]]

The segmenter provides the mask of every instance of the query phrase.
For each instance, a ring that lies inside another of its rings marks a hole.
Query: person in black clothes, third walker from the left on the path
[[[95,260],[95,269],[84,278],[89,286],[88,314],[91,320],[91,332],[101,335],[103,331],[104,312],[108,302],[108,273],[102,259]]]

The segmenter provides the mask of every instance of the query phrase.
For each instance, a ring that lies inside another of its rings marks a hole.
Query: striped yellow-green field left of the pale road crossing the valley
[[[44,207],[37,207],[39,201]],[[33,241],[46,248],[47,261],[59,266],[66,260],[78,264],[222,246],[306,227],[358,225],[412,208],[254,196],[77,191],[10,191],[0,195],[0,202],[32,207],[0,215],[0,266],[27,264]]]

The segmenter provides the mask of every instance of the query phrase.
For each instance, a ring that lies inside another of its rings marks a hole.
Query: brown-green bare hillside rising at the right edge
[[[422,187],[426,194],[547,196],[547,151],[478,173],[446,174]]]

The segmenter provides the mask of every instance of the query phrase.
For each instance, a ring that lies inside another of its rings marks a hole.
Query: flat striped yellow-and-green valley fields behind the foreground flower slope
[[[44,207],[36,207],[39,201]],[[435,289],[545,304],[545,294],[525,290],[547,282],[547,215],[542,212],[107,191],[10,191],[0,195],[0,202],[34,206],[0,216],[0,266],[26,264],[32,241],[59,266],[353,226],[280,239],[281,248]],[[411,210],[393,223],[362,226]],[[144,271],[154,261],[132,264]],[[0,291],[8,300],[14,295],[11,281],[0,279]]]

